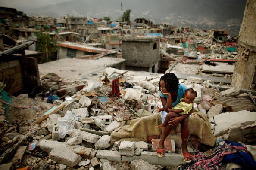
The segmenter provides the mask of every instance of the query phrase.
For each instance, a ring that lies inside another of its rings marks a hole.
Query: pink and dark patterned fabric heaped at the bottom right
[[[192,155],[192,162],[179,167],[178,170],[220,170],[220,167],[224,164],[223,159],[225,156],[240,152],[242,152],[243,155],[249,155],[250,153],[244,146],[232,146],[231,143],[225,143],[222,146],[215,147],[212,154],[209,156],[203,155],[203,152]],[[244,164],[240,165],[244,166]]]

